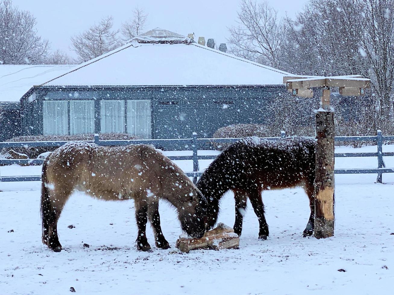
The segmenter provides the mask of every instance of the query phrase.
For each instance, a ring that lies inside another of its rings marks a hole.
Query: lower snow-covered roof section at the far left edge
[[[19,101],[33,85],[39,85],[75,65],[0,65],[0,101]]]

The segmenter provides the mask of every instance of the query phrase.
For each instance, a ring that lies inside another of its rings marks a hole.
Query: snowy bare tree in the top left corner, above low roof
[[[11,0],[0,0],[0,64],[42,63],[48,40],[37,35],[35,18]]]

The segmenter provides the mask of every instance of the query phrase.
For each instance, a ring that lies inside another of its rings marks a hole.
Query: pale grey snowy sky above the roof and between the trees
[[[306,0],[268,2],[280,16],[287,13],[294,17]],[[75,56],[69,48],[71,36],[107,15],[114,18],[113,28],[120,28],[121,22],[132,17],[136,6],[148,14],[147,30],[160,27],[225,43],[229,37],[227,27],[235,24],[240,0],[13,0],[13,4],[34,15],[39,35],[51,42],[52,50],[60,49]]]

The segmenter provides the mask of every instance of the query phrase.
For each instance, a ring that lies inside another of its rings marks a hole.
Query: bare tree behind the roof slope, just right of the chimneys
[[[265,65],[280,65],[282,21],[266,1],[242,0],[238,26],[229,28],[230,53]]]

